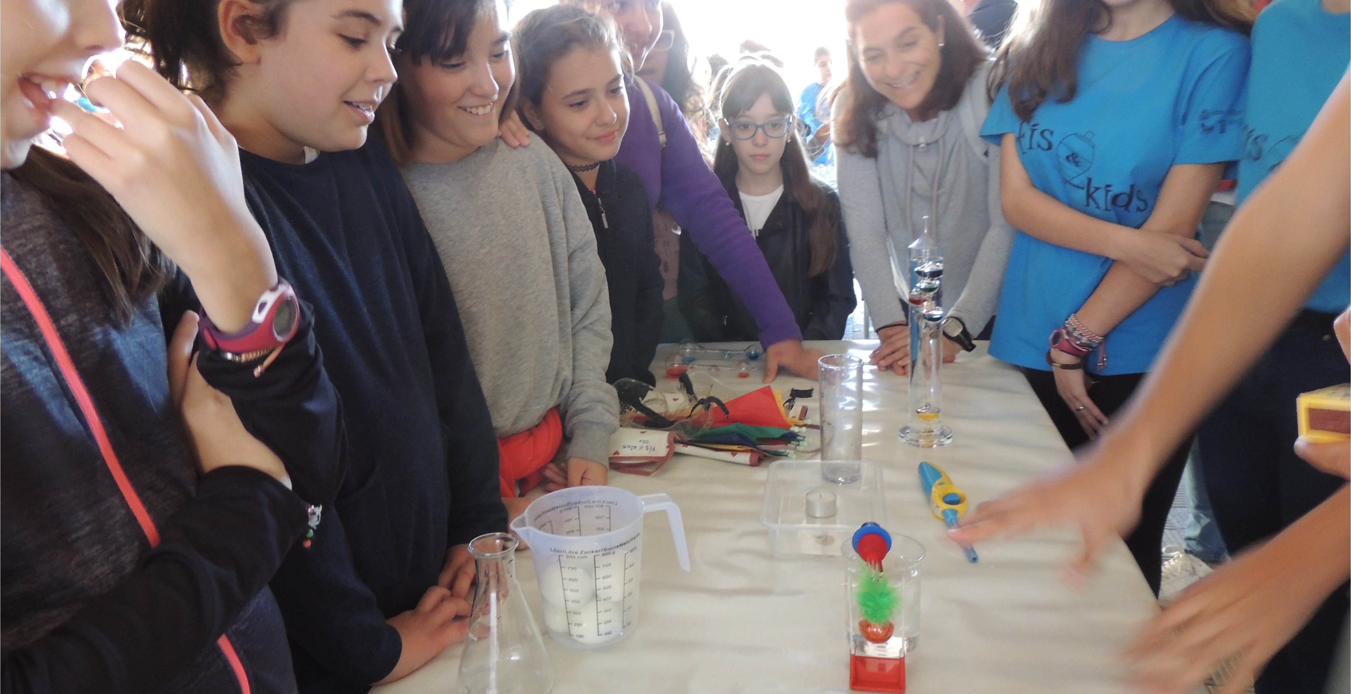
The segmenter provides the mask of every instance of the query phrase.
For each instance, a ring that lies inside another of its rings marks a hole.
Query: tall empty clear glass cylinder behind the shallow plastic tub
[[[863,459],[863,361],[847,354],[817,359],[821,389],[821,460]],[[858,463],[821,463],[821,478],[857,482]]]

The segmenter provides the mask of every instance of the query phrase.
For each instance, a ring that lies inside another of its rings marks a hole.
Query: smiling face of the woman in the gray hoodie
[[[934,31],[909,4],[886,3],[859,18],[852,38],[867,84],[911,117],[923,119],[916,109],[943,65],[942,19]]]

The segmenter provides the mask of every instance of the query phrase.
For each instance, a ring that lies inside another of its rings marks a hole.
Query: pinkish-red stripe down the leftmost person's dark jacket
[[[66,351],[66,346],[61,340],[61,333],[57,332],[57,325],[51,321],[51,315],[47,313],[47,306],[38,298],[38,293],[28,282],[28,277],[9,258],[9,251],[3,247],[0,247],[0,270],[4,271],[14,289],[19,292],[19,298],[23,298],[23,305],[28,308],[28,313],[32,315],[32,320],[38,324],[42,339],[47,343],[51,356],[57,361],[57,367],[61,370],[61,377],[65,379],[66,388],[74,394],[76,404],[80,405],[80,413],[84,415],[85,423],[93,433],[93,440],[99,444],[99,452],[103,454],[104,464],[112,473],[112,479],[118,483],[122,498],[127,501],[127,506],[131,506],[131,514],[141,524],[141,532],[146,535],[150,547],[158,545],[159,531],[155,528],[155,521],[150,517],[146,505],[141,502],[141,496],[136,494],[135,487],[131,486],[131,481],[127,479],[127,474],[122,470],[118,454],[112,450],[112,442],[108,440],[108,432],[103,428],[103,419],[99,417],[99,410],[93,406],[93,398],[89,397],[89,390],[84,385],[84,379],[80,378],[80,371],[76,370],[76,365],[70,359],[70,352]],[[242,694],[251,694],[249,672],[245,670],[239,653],[235,652],[235,644],[230,643],[228,636],[220,635],[220,639],[216,639],[216,645],[220,647],[222,655],[230,663],[230,670],[234,671],[235,680],[239,683],[239,691]]]

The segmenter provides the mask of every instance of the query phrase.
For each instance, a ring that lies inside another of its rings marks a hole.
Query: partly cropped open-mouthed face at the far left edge
[[[85,62],[122,46],[116,0],[0,0],[0,167],[28,157],[51,126],[51,101]]]

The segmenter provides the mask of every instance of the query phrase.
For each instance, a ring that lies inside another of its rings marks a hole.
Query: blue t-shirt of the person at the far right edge
[[[1351,15],[1329,14],[1323,0],[1278,0],[1258,15],[1239,161],[1240,204],[1300,143],[1348,65]],[[1340,313],[1348,304],[1351,254],[1332,267],[1305,306]]]

